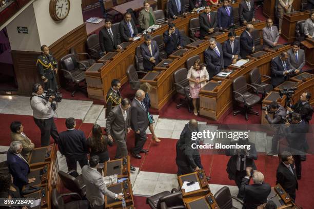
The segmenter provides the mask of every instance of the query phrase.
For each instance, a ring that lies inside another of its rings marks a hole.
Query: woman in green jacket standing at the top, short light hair
[[[140,28],[146,30],[152,25],[156,25],[156,17],[153,13],[153,9],[150,7],[148,1],[144,1],[144,9],[140,11],[139,14],[139,24]]]

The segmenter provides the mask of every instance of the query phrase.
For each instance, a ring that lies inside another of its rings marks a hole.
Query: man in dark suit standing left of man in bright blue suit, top
[[[205,6],[205,11],[199,16],[201,38],[218,31],[217,28],[217,12],[210,12],[211,7]]]

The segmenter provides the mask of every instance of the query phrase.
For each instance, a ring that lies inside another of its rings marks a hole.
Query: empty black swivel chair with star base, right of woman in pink
[[[250,93],[247,89],[247,86],[251,87],[254,91],[255,94]],[[258,90],[246,83],[245,77],[243,75],[235,78],[232,81],[232,88],[233,88],[233,100],[241,110],[234,111],[233,115],[237,115],[239,113],[244,113],[245,119],[248,120],[248,114],[255,114],[259,115],[258,112],[252,111],[252,107],[256,105],[257,103],[260,102],[261,98],[259,97]]]

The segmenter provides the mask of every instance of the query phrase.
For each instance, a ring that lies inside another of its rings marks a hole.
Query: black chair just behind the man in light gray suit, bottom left
[[[81,197],[86,196],[86,185],[83,181],[82,175],[78,175],[78,173],[74,170],[71,170],[68,173],[58,171],[58,175],[66,189],[80,194]]]

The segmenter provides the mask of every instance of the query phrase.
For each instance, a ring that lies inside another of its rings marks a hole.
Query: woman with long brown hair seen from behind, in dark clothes
[[[106,162],[110,160],[107,145],[112,147],[111,141],[106,135],[103,135],[102,128],[95,124],[92,129],[92,136],[87,139],[88,151],[90,156],[98,155],[99,162]]]

